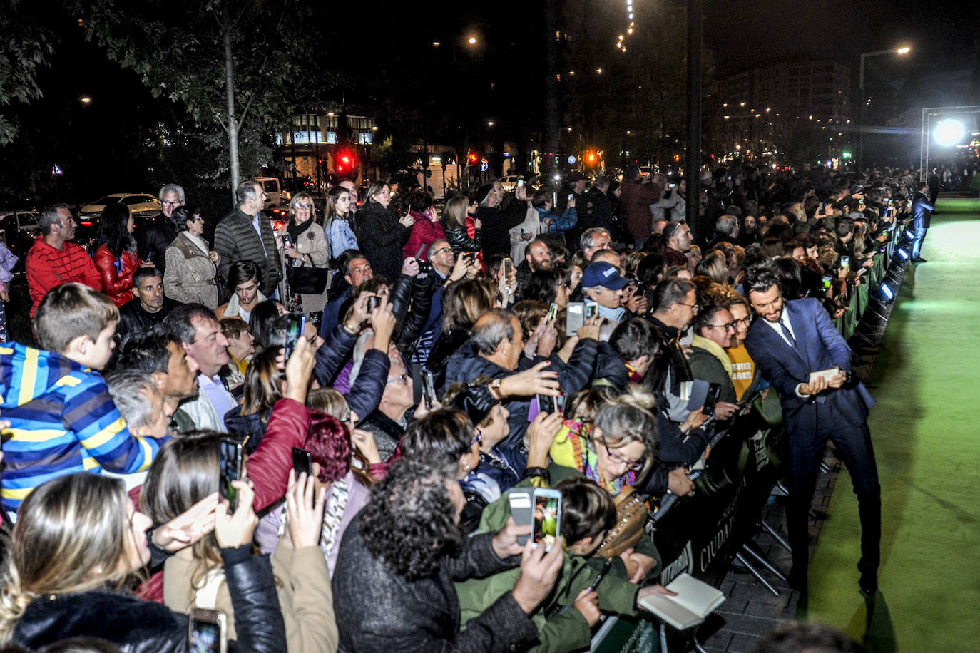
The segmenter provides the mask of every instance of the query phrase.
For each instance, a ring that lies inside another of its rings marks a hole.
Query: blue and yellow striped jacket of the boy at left
[[[164,443],[131,435],[102,375],[54,351],[0,347],[0,393],[6,510],[65,474],[143,471]]]

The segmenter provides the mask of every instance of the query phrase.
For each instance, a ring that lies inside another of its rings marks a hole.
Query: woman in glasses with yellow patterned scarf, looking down
[[[633,490],[643,487],[655,464],[657,420],[651,412],[655,402],[653,395],[633,386],[597,406],[591,420],[564,420],[549,451],[547,475],[552,487],[563,479],[584,476],[613,496],[617,511],[630,505],[634,512],[645,510]],[[533,451],[528,454],[528,469],[545,464]],[[599,555],[619,557],[631,581],[654,578],[651,575],[660,572],[660,554],[653,540],[642,529],[614,531],[600,545]]]

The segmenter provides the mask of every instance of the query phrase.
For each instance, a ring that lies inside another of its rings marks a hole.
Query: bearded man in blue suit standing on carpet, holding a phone
[[[777,277],[764,267],[749,271],[745,290],[760,316],[749,331],[746,348],[762,376],[779,392],[789,441],[790,584],[807,586],[809,504],[823,450],[832,440],[858,494],[858,584],[865,593],[874,594],[881,557],[881,487],[867,428],[874,399],[851,378],[851,349],[818,301],[784,303]],[[812,376],[819,371],[827,373]]]

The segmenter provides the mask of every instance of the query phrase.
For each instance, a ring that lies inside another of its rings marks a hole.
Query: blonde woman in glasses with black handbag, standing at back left
[[[289,221],[279,233],[283,241],[282,254],[288,265],[324,269],[328,267],[330,246],[326,241],[326,233],[319,226],[317,208],[309,193],[297,193],[293,197],[289,203]],[[326,285],[319,294],[299,295],[299,302],[304,313],[319,316],[326,303]]]

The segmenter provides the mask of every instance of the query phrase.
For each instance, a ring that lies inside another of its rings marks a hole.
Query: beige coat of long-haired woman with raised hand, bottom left
[[[164,564],[164,603],[189,614],[195,607],[213,607],[227,617],[228,639],[235,639],[234,609],[221,574],[214,606],[195,605],[190,580],[197,563],[191,550],[177,551]],[[272,574],[278,585],[279,607],[286,625],[289,653],[333,653],[339,633],[333,615],[333,594],[326,558],[319,546],[293,549],[283,540],[272,556]]]

